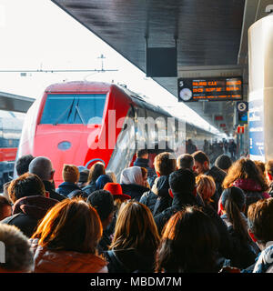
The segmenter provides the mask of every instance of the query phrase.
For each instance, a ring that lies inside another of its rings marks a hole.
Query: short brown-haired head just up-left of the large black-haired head
[[[160,153],[154,160],[157,176],[168,176],[177,169],[176,157],[170,153]]]

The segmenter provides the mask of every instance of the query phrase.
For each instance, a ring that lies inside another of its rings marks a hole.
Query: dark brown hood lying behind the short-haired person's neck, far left
[[[46,212],[59,201],[45,196],[26,196],[15,201],[13,215],[23,213],[35,219],[41,219]]]

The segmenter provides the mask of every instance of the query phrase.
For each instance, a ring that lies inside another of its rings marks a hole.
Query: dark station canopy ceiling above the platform
[[[177,77],[243,77],[248,100],[248,27],[270,0],[52,0],[140,70],[148,47],[173,47]],[[177,77],[153,77],[177,96]],[[145,94],[145,92],[144,92]],[[211,125],[233,133],[235,102],[187,103]],[[216,121],[215,115],[223,115]]]

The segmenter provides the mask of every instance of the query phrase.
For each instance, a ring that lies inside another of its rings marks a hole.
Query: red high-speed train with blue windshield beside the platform
[[[160,118],[154,127],[140,125],[147,117],[151,123]],[[118,179],[132,164],[136,148],[146,146],[154,156],[165,150],[180,154],[185,151],[186,138],[200,148],[204,139],[215,137],[189,123],[178,130],[177,118],[174,125],[168,125],[173,132],[162,135],[171,117],[121,85],[86,81],[49,85],[25,116],[17,156],[49,157],[58,186],[63,182],[64,164],[90,167],[102,161]]]

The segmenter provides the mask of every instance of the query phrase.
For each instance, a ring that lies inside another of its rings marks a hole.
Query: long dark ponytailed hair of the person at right
[[[221,196],[222,206],[227,213],[227,220],[243,241],[251,242],[248,236],[248,227],[241,215],[246,206],[246,196],[243,190],[236,186],[225,189]]]

